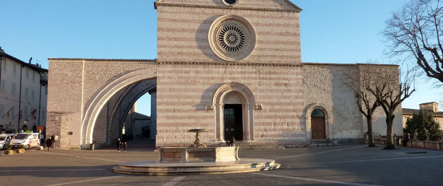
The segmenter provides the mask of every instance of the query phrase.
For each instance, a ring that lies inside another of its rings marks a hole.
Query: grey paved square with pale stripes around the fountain
[[[8,186],[441,186],[443,151],[333,146],[243,150],[241,158],[275,159],[273,171],[241,174],[139,176],[112,171],[118,163],[157,159],[157,152],[28,150],[0,156]],[[406,154],[408,152],[427,152]]]

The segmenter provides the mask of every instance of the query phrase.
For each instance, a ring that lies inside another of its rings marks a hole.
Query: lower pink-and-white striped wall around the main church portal
[[[263,109],[254,109],[254,140],[305,140],[299,66],[159,65],[157,144],[192,143],[192,128],[207,128],[203,139],[216,140],[214,110],[205,110],[223,84],[246,85]]]

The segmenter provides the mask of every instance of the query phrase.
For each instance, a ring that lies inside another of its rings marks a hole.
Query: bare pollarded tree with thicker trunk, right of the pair
[[[386,114],[385,149],[395,149],[392,139],[394,111],[401,102],[415,91],[413,87],[411,89],[411,86],[415,85],[416,68],[407,68],[404,71],[396,66],[391,68],[373,68],[377,69],[377,75],[372,83],[374,86],[368,86],[366,89],[375,96]]]

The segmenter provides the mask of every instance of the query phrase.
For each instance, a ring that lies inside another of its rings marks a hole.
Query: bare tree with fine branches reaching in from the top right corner
[[[427,77],[443,82],[442,16],[440,0],[411,0],[393,13],[381,32],[389,43],[387,54],[406,54]]]

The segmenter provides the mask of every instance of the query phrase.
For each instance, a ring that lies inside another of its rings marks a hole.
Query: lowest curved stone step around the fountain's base
[[[204,174],[232,174],[242,172],[255,172],[255,171],[268,171],[278,169],[279,163],[274,163],[268,167],[251,167],[251,168],[235,168],[235,169],[213,169],[213,170],[180,170],[180,171],[143,171],[143,170],[130,170],[122,169],[120,167],[114,167],[113,170],[118,173],[124,174],[140,174],[140,175],[204,175]]]

